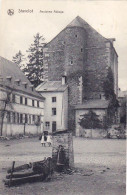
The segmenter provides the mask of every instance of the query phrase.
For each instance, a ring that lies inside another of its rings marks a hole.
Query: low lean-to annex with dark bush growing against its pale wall
[[[85,104],[80,104],[75,106],[75,115],[76,115],[76,136],[81,137],[104,137],[107,135],[106,131],[103,131],[102,128],[94,129],[84,129],[79,125],[80,119],[83,115],[87,114],[89,110],[92,111],[99,117],[100,121],[104,120],[104,117],[107,115],[107,108],[109,102],[107,100],[88,100]]]

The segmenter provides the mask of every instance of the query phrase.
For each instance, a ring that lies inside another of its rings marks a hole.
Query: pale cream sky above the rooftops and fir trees
[[[8,9],[13,9],[14,14],[8,15]],[[127,1],[1,0],[0,56],[12,60],[19,50],[25,54],[38,32],[49,42],[76,16],[105,38],[116,39],[119,87],[127,90]]]

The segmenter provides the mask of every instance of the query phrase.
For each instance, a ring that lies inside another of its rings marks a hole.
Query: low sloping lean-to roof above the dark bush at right
[[[107,100],[88,100],[83,104],[79,104],[75,106],[76,110],[80,109],[106,109],[108,108],[109,101]]]

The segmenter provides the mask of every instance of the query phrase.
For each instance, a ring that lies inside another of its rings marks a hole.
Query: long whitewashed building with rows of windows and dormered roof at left
[[[41,133],[45,98],[19,67],[0,57],[0,131],[2,136]]]

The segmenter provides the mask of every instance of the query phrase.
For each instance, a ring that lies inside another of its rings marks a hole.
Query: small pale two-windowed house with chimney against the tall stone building
[[[45,98],[44,131],[54,133],[56,130],[68,129],[68,86],[65,77],[62,81],[46,81],[36,90]]]

